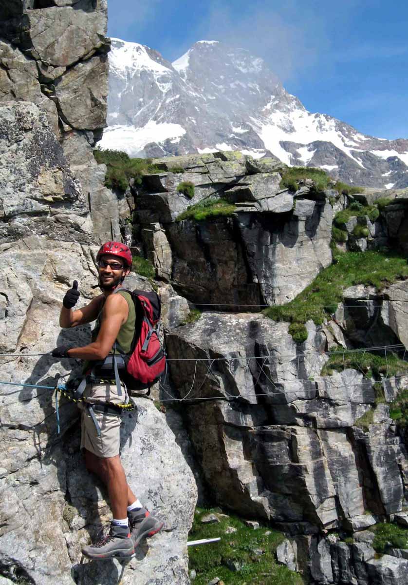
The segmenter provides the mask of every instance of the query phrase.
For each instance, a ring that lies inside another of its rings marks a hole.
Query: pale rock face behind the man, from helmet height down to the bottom
[[[82,302],[95,294],[91,286],[97,248],[33,235],[3,243],[0,249],[0,298],[6,299],[0,350],[21,354],[2,358],[2,381],[53,388],[60,376],[78,368],[75,360],[23,353],[88,342],[89,325],[61,331],[58,314],[74,278]],[[144,287],[136,278],[129,284]],[[136,402],[137,415],[123,415],[122,460],[129,483],[164,520],[165,531],[151,541],[146,558],[146,549],[139,551],[122,582],[170,585],[176,579],[187,584],[186,539],[197,497],[195,480],[164,415],[149,400]],[[71,570],[77,583],[117,580],[122,567],[115,562],[79,565],[81,545],[95,537],[110,511],[105,491],[95,486],[79,454],[75,405],[61,400],[62,439],[57,437],[52,389],[1,386],[0,413],[0,574],[41,585],[71,583]],[[163,479],[170,476],[171,481]]]

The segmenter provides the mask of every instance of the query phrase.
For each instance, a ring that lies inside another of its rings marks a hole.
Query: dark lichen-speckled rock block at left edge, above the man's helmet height
[[[86,200],[46,113],[30,102],[5,102],[0,119],[2,240],[46,233],[89,241]]]

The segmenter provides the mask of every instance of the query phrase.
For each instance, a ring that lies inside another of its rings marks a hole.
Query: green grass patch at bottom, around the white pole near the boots
[[[233,515],[220,514],[220,522],[217,524],[201,524],[200,518],[209,512],[216,513],[216,510],[197,508],[189,539],[220,536],[221,541],[203,546],[189,546],[189,569],[194,569],[197,573],[194,585],[208,585],[215,577],[223,580],[226,585],[303,584],[298,573],[276,563],[275,550],[285,539],[285,535],[271,528],[253,530]],[[228,526],[236,528],[236,532],[226,534]],[[256,555],[255,549],[261,549],[263,554]],[[241,568],[231,571],[227,567],[231,561],[238,561]]]

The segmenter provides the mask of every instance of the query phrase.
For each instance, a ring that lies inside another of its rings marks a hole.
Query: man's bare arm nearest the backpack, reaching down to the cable
[[[129,305],[125,298],[119,294],[110,295],[103,305],[101,329],[96,340],[84,347],[72,347],[68,350],[68,356],[83,360],[105,359],[128,315]]]

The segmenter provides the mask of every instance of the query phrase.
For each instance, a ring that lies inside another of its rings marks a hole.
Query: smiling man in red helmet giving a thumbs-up
[[[74,286],[65,294],[60,314],[60,325],[64,328],[77,327],[96,319],[92,342],[84,347],[60,346],[52,352],[54,357],[86,360],[85,374],[93,369],[92,366],[102,363],[101,360],[113,353],[115,343],[125,353],[130,352],[136,322],[132,295],[125,290],[120,291],[123,280],[132,267],[129,247],[119,242],[106,242],[99,249],[96,261],[102,294],[86,307],[72,310],[79,298],[78,283],[74,281]],[[115,374],[104,372],[103,378],[107,377],[114,378]],[[152,536],[162,527],[162,523],[142,507],[127,485],[120,462],[120,409],[115,409],[115,404],[129,401],[125,385],[120,386],[117,388],[113,379],[88,383],[83,394],[85,402],[79,402],[81,449],[84,450],[85,464],[90,472],[98,474],[106,484],[113,512],[109,534],[95,545],[82,549],[82,553],[90,558],[131,556],[143,536]],[[110,407],[106,402],[110,403]]]

